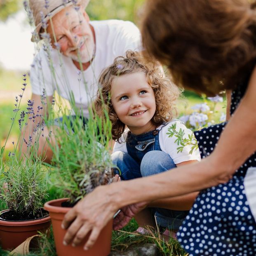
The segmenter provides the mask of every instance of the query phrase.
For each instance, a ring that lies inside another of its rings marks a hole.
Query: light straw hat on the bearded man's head
[[[35,32],[39,33],[42,27],[42,16],[45,21],[48,21],[49,16],[54,16],[63,8],[73,5],[74,3],[80,5],[82,9],[85,9],[89,1],[90,0],[29,0],[29,5],[35,22]],[[34,41],[33,37],[31,40]]]

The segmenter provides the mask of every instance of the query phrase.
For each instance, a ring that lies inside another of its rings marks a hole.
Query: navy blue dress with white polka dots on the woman
[[[247,84],[247,83],[246,83]],[[232,93],[233,114],[246,86]],[[218,144],[225,123],[195,132],[201,157],[207,157]],[[256,167],[256,154],[225,184],[203,190],[177,233],[178,241],[190,256],[256,256],[256,223],[244,192],[244,176]]]

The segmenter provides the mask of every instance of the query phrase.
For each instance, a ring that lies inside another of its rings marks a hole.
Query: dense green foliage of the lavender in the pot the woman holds
[[[110,131],[108,117],[103,123],[92,111],[88,120],[77,113],[71,119],[64,115],[59,122],[54,134],[57,143],[53,148],[52,172],[58,177],[54,185],[61,188],[63,197],[70,198],[70,203],[112,181]]]

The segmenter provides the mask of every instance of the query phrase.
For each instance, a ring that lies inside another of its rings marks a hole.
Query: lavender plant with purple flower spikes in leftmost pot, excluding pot
[[[42,110],[38,106],[36,113],[34,113],[33,102],[30,100],[27,103],[26,110],[20,109],[26,85],[26,74],[24,74],[22,93],[15,97],[14,115],[11,118],[12,124],[5,144],[0,150],[0,198],[14,214],[33,218],[40,211],[42,200],[47,196],[47,181],[45,179],[46,168],[43,167],[41,158],[37,156],[38,140],[40,136],[43,136],[44,124],[38,123],[36,125],[34,141],[32,141],[32,136],[26,141],[21,135],[21,130],[23,126],[27,125],[28,120],[35,122],[35,118],[41,115]],[[18,115],[20,118],[17,120]],[[13,150],[9,152],[7,159],[4,161],[5,146],[14,122],[18,122],[20,133],[18,140],[12,142]],[[20,140],[24,140],[26,143],[26,155],[21,154]],[[42,217],[40,214],[39,216]]]

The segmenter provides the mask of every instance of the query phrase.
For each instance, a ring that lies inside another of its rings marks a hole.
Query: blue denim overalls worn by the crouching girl
[[[176,167],[171,157],[160,148],[159,132],[155,129],[139,135],[127,134],[128,154],[117,151],[112,155],[113,164],[120,169],[122,180],[154,175]],[[172,230],[177,230],[188,214],[188,211],[163,208],[152,208],[152,212],[158,225]]]

